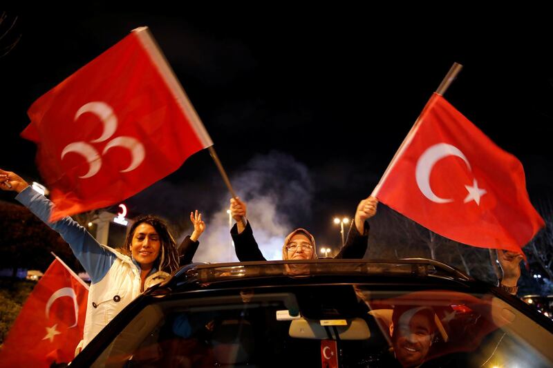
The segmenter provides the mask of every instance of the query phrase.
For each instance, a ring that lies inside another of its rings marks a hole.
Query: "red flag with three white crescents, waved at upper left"
[[[50,220],[111,206],[213,144],[147,28],[35,101],[21,133],[55,203]]]

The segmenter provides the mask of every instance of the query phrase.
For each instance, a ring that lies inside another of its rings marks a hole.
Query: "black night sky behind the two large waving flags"
[[[19,18],[1,47],[21,40],[0,58],[2,141],[17,149],[5,148],[0,167],[38,179],[35,146],[19,137],[32,101],[133,28],[149,26],[236,191],[251,201],[268,195],[286,230],[302,226],[320,242],[337,240],[332,217],[353,215],[371,193],[453,61],[465,68],[445,97],[521,159],[534,202],[552,193],[550,28],[465,19],[438,32],[421,19],[377,25],[377,15],[355,10],[274,19],[269,10],[223,13],[8,13]],[[202,151],[129,204],[171,218],[198,208],[209,219],[228,197]]]

